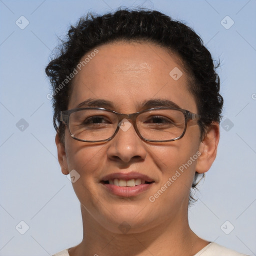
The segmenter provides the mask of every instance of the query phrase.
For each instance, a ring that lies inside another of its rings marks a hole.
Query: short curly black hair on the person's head
[[[81,58],[102,44],[117,41],[149,42],[175,53],[189,74],[188,89],[194,96],[200,114],[201,138],[207,127],[220,122],[223,98],[219,94],[219,77],[210,52],[201,38],[184,23],[155,10],[118,9],[104,15],[87,14],[70,27],[67,38],[57,48],[56,55],[45,68],[52,86],[54,127],[63,141],[64,126],[59,111],[66,110],[72,80],[60,86],[73,72]],[[59,89],[61,88],[61,89]],[[192,188],[196,186],[194,177]]]

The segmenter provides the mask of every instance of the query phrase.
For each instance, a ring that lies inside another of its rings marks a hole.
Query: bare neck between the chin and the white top
[[[123,256],[194,255],[209,243],[190,229],[187,211],[143,232],[134,232],[131,228],[121,234],[102,227],[83,207],[81,212],[83,239],[69,249],[70,256],[117,256],[120,252]]]

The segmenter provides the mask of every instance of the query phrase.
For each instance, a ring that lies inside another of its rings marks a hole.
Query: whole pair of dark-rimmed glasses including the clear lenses
[[[183,137],[188,120],[200,118],[199,114],[174,107],[154,107],[126,114],[101,107],[83,107],[61,111],[59,116],[71,137],[84,142],[111,140],[119,128],[124,131],[131,124],[144,141],[173,141]]]

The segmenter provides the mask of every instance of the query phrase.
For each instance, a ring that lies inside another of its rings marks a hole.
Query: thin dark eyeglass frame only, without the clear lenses
[[[84,139],[80,139],[80,138],[76,138],[70,131],[70,125],[69,125],[69,117],[70,117],[70,114],[73,113],[73,112],[76,112],[76,111],[81,111],[81,110],[85,110],[85,109],[99,109],[99,110],[105,110],[105,111],[108,111],[108,112],[112,112],[114,113],[116,116],[117,116],[117,119],[118,119],[118,123],[117,123],[117,127],[113,133],[112,136],[110,136],[109,138],[107,139],[101,139],[101,140],[84,140]],[[183,129],[183,132],[181,133],[180,136],[176,137],[176,138],[172,138],[172,139],[167,139],[167,140],[152,140],[152,139],[147,139],[147,138],[144,138],[140,132],[138,131],[138,128],[137,128],[137,123],[136,123],[136,118],[137,116],[140,114],[140,113],[143,113],[143,112],[146,112],[146,111],[150,111],[150,110],[154,110],[154,109],[173,109],[173,110],[178,110],[178,111],[181,111],[184,115],[184,118],[185,118],[185,125],[184,125],[184,129]],[[188,120],[198,120],[201,116],[200,114],[196,114],[196,113],[192,113],[186,109],[182,109],[182,108],[177,108],[177,107],[152,107],[152,108],[149,108],[149,109],[145,109],[145,110],[142,110],[142,111],[138,111],[138,112],[135,112],[135,113],[119,113],[119,112],[116,112],[114,110],[111,110],[111,109],[107,109],[107,108],[103,108],[103,107],[78,107],[78,108],[73,108],[73,109],[68,109],[68,110],[63,110],[63,111],[60,111],[59,112],[59,121],[61,121],[65,126],[67,126],[67,129],[68,129],[68,132],[70,134],[70,136],[75,139],[75,140],[78,140],[78,141],[82,141],[82,142],[104,142],[104,141],[109,141],[111,140],[118,132],[120,126],[118,125],[120,123],[120,121],[122,121],[124,118],[127,119],[127,120],[131,120],[132,121],[132,126],[133,128],[135,129],[137,135],[144,141],[149,141],[149,142],[169,142],[169,141],[174,141],[174,140],[177,140],[177,139],[180,139],[184,136],[185,134],[185,131],[186,131],[186,127],[187,127],[187,121]]]

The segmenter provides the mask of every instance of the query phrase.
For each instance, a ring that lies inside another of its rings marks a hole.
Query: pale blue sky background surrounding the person
[[[256,255],[255,0],[0,0],[0,256],[52,255],[82,238],[79,202],[56,159],[44,67],[69,23],[118,6],[184,21],[221,60],[219,149],[189,222],[207,240]],[[223,223],[234,229],[226,234]]]

